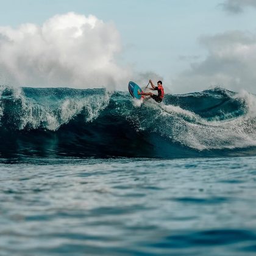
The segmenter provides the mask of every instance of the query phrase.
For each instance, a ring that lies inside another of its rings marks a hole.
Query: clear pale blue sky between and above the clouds
[[[75,12],[95,15],[115,24],[122,51],[117,62],[132,65],[138,72],[152,71],[166,80],[202,62],[209,52],[199,42],[233,30],[255,33],[256,11],[224,11],[224,0],[108,0],[108,1],[0,1],[0,26],[43,24],[56,14]],[[226,1],[227,2],[227,1]],[[131,78],[132,80],[132,78]],[[177,87],[177,85],[176,85]],[[204,85],[207,87],[207,85]]]

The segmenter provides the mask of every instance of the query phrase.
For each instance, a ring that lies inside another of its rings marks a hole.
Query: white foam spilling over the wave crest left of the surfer
[[[63,124],[68,123],[83,110],[85,111],[85,122],[93,121],[99,116],[99,112],[107,107],[110,93],[87,96],[85,98],[69,98],[60,101],[54,107],[47,104],[40,105],[32,99],[26,98],[21,88],[12,88],[13,100],[20,102],[18,122],[16,129],[24,128],[57,130]],[[0,105],[0,115],[2,112]]]

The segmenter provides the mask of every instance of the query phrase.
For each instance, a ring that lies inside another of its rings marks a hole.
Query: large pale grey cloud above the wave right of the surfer
[[[221,86],[256,93],[256,34],[233,31],[201,37],[208,55],[172,81],[179,93]]]

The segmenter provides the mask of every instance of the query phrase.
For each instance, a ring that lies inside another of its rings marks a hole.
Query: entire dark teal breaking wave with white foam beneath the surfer
[[[216,157],[256,154],[256,96],[214,88],[141,104],[104,89],[0,88],[0,154]]]

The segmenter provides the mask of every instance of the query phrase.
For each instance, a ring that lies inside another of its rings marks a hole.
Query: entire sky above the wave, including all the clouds
[[[256,0],[0,0],[0,82],[256,93]]]

